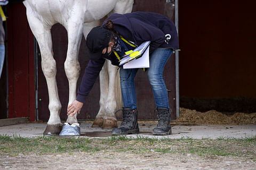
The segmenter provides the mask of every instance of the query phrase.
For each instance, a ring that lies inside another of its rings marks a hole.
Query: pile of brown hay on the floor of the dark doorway
[[[195,124],[256,124],[256,113],[235,113],[226,115],[217,111],[197,112],[180,108],[180,117],[176,122]]]

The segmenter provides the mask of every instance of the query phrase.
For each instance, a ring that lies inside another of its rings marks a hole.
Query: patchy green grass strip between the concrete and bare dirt
[[[256,136],[244,139],[157,139],[114,136],[102,139],[0,135],[0,155],[65,152],[132,152],[133,154],[197,154],[199,156],[245,157],[256,161]]]

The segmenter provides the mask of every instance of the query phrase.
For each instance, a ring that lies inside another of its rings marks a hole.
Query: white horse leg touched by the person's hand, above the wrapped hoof
[[[80,17],[78,17],[80,16]],[[79,47],[83,36],[83,15],[77,15],[71,18],[65,25],[68,32],[68,50],[65,61],[65,72],[69,82],[69,101],[70,105],[76,100],[76,84],[80,73],[80,65],[78,62]],[[67,123],[77,123],[77,114],[73,117],[68,116]]]

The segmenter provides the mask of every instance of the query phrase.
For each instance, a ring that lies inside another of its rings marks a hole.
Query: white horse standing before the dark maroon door
[[[30,29],[41,51],[42,70],[49,92],[50,118],[44,134],[59,134],[62,129],[59,116],[61,104],[55,78],[57,70],[52,50],[52,25],[60,23],[68,33],[65,72],[69,82],[69,105],[76,99],[76,85],[80,72],[78,51],[82,36],[86,38],[90,30],[106,15],[131,12],[133,0],[26,0],[23,3],[27,9]],[[115,96],[121,96],[120,92],[116,94],[116,89],[119,89],[116,87],[119,86],[117,74],[117,67],[106,61],[100,72],[100,109],[93,126],[117,127],[115,111],[122,105],[122,101],[115,99]],[[77,123],[76,115],[68,116],[67,123]]]

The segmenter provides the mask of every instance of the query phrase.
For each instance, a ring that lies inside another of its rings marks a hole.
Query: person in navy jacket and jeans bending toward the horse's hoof
[[[149,68],[147,75],[153,89],[158,124],[154,135],[171,134],[171,109],[167,89],[163,80],[164,66],[173,50],[178,49],[178,34],[175,24],[165,16],[151,12],[112,14],[102,26],[94,27],[86,38],[90,61],[78,88],[77,99],[68,106],[68,115],[81,111],[83,103],[97,79],[105,60],[119,66],[120,56],[144,41],[149,46]],[[120,83],[123,98],[123,121],[114,128],[112,135],[138,134],[138,111],[134,77],[138,69],[120,67]]]

